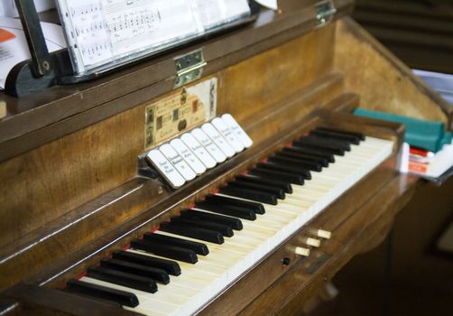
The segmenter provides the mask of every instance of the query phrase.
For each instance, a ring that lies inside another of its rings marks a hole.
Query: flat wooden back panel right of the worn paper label
[[[335,25],[306,34],[245,60],[222,74],[225,89],[219,94],[220,112],[239,121],[256,117],[271,105],[290,96],[313,79],[326,75],[333,65]],[[234,91],[234,93],[232,93]]]

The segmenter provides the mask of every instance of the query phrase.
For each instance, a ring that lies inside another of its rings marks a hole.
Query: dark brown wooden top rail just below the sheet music
[[[208,61],[204,74],[215,74],[240,60],[309,33],[316,16],[310,6],[313,3],[312,0],[288,0],[282,5],[284,14],[266,11],[254,25],[203,42],[203,54]],[[337,17],[352,8],[351,0],[335,3]],[[318,49],[318,45],[312,47]],[[8,112],[0,121],[0,161],[171,91],[176,73],[174,57],[199,48],[196,43],[94,82],[55,87],[27,98],[0,94],[0,101],[5,100]],[[88,114],[90,111],[92,114]],[[80,120],[80,116],[84,118]],[[65,124],[59,124],[63,121]]]

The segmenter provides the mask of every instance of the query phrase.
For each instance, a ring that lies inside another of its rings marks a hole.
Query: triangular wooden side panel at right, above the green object
[[[335,68],[347,89],[361,95],[361,107],[403,116],[439,120],[451,127],[453,107],[411,70],[346,18],[337,23]]]

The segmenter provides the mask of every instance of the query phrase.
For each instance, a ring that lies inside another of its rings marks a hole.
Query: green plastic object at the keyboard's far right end
[[[395,116],[390,113],[366,110],[359,107],[356,108],[354,114],[356,116],[402,123],[406,130],[404,141],[412,146],[427,149],[430,152],[437,153],[444,144],[451,143],[452,135],[445,131],[445,126],[441,122],[425,121],[408,116]]]

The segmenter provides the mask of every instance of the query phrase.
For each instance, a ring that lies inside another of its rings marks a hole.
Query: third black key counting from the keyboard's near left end
[[[117,271],[123,271],[128,274],[141,275],[164,284],[170,283],[169,274],[167,274],[165,270],[146,265],[137,265],[132,262],[117,259],[103,259],[101,260],[101,266]]]

